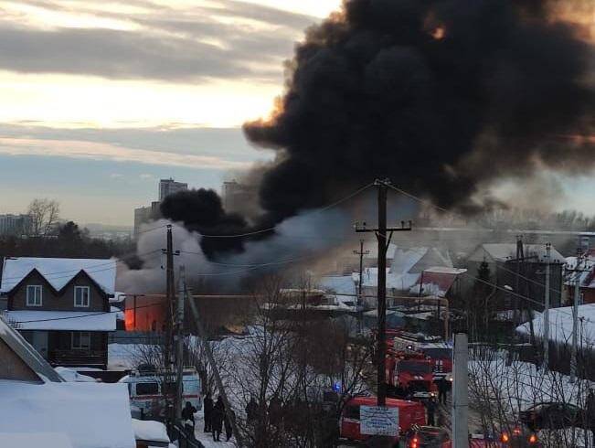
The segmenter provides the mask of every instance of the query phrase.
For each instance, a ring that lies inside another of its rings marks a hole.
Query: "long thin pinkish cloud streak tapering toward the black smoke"
[[[210,168],[218,170],[245,169],[250,163],[237,162],[213,155],[183,155],[163,151],[133,149],[115,144],[77,140],[46,140],[36,138],[0,137],[0,154],[72,157],[79,159],[135,162],[146,165]]]

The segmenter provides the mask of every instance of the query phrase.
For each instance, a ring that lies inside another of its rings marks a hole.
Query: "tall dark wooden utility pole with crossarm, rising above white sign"
[[[405,222],[401,221],[400,228],[387,229],[387,192],[390,181],[376,180],[374,185],[378,188],[378,227],[377,229],[360,228],[356,224],[356,232],[374,232],[378,242],[378,276],[377,276],[377,406],[385,406],[387,403],[387,379],[385,373],[386,343],[387,338],[387,249],[394,231],[411,230],[405,227]],[[390,235],[387,239],[387,231]]]

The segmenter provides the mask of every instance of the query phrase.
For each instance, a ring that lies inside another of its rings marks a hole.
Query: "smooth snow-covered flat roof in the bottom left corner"
[[[63,433],[73,448],[136,446],[125,384],[3,379],[0,397],[0,433]]]

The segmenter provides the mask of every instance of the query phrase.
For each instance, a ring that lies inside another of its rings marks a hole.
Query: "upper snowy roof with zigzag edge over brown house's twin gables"
[[[29,272],[37,270],[57,291],[80,271],[86,272],[104,293],[113,294],[116,283],[116,260],[84,258],[5,258],[0,293],[10,292]]]

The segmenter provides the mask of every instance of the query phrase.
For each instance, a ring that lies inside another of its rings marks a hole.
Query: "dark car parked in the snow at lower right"
[[[537,403],[518,414],[520,421],[532,431],[541,429],[558,430],[582,426],[584,411],[569,403]]]

